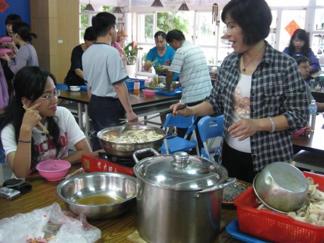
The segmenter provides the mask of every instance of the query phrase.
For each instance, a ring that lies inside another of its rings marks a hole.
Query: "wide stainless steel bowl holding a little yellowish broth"
[[[118,173],[86,173],[62,181],[56,194],[73,214],[83,214],[88,220],[106,220],[131,209],[136,178]]]

